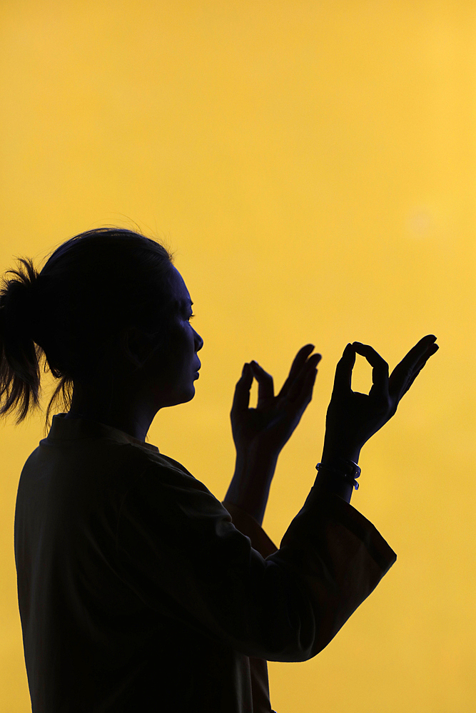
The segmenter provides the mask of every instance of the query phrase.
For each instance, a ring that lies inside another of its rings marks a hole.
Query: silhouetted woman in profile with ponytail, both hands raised
[[[312,396],[313,344],[277,396],[261,366],[243,367],[236,471],[221,503],[145,441],[159,409],[193,399],[201,366],[173,255],[101,228],[64,242],[41,272],[19,260],[0,291],[0,415],[17,410],[19,424],[39,407],[43,360],[59,379],[16,498],[32,712],[270,713],[266,662],[318,654],[395,561],[350,495],[360,449],[436,338],[420,339],[391,376],[372,347],[345,347],[315,483],[277,548],[261,524],[278,454]],[[369,394],[351,389],[356,353],[373,366]]]

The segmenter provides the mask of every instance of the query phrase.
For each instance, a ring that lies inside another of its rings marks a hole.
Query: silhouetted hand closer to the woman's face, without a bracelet
[[[313,396],[316,366],[321,359],[320,354],[309,356],[313,349],[313,344],[306,344],[296,354],[278,396],[274,396],[273,376],[256,361],[245,364],[230,414],[237,453],[258,449],[262,454],[278,456]],[[258,404],[249,409],[253,376],[258,381]]]

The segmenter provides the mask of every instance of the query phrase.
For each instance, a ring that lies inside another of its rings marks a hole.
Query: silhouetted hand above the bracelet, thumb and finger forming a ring
[[[392,418],[403,394],[410,389],[430,356],[439,349],[435,339],[432,334],[420,339],[390,376],[387,362],[368,344],[353,342],[345,347],[335,369],[333,394],[325,421],[323,463],[335,456],[358,462],[360,448]],[[355,354],[365,356],[373,366],[373,386],[368,394],[360,394],[351,388]]]

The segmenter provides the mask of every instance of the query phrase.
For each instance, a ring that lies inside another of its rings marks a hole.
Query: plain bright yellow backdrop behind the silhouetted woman
[[[203,368],[148,441],[222,499],[243,363],[278,391],[303,344],[323,354],[271,488],[277,545],[313,485],[345,344],[393,368],[437,335],[352,500],[397,562],[317,657],[270,662],[270,693],[278,713],[474,712],[475,2],[4,0],[0,58],[1,271],[133,221],[177,250]],[[370,386],[361,357],[353,384]],[[30,709],[13,522],[43,427],[0,431],[9,713]]]

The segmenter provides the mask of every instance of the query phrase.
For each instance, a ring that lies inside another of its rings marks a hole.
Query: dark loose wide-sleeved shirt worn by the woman
[[[393,550],[315,486],[276,548],[157,446],[65,415],[16,498],[32,713],[269,713],[266,662],[318,654]]]

